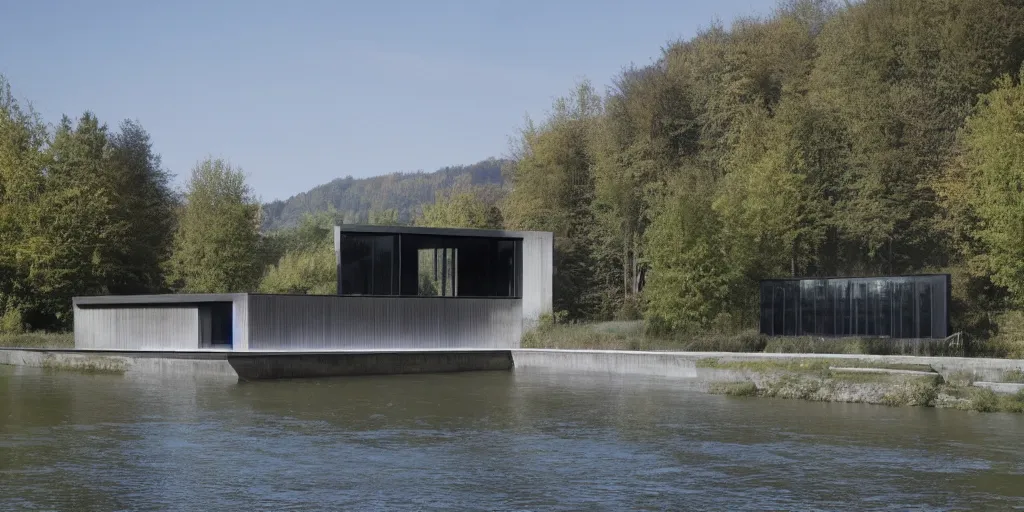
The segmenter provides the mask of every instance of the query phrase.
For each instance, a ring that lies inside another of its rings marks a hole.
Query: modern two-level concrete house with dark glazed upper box
[[[509,349],[552,306],[552,234],[335,227],[335,295],[77,297],[75,347],[318,352]]]

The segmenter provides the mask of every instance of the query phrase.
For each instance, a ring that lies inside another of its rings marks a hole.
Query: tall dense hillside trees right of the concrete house
[[[584,83],[514,148],[504,220],[555,304],[757,325],[757,282],[948,271],[954,329],[1024,306],[1024,4],[794,1]]]

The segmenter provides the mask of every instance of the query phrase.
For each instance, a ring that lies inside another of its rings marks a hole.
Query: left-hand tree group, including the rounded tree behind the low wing
[[[223,161],[179,193],[139,124],[85,113],[51,128],[0,78],[0,331],[69,329],[81,295],[252,290],[259,221]]]

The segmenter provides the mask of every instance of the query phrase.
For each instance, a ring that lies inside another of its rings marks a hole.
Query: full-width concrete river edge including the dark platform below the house
[[[122,352],[0,349],[0,364],[236,380],[466,371],[635,375],[731,396],[1024,413],[1024,359],[863,354],[510,349]]]

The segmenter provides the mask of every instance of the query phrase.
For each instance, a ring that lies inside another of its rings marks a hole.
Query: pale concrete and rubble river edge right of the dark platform
[[[1024,413],[1024,359],[513,350],[516,371],[667,377],[731,396]]]

